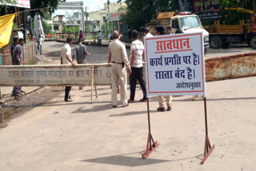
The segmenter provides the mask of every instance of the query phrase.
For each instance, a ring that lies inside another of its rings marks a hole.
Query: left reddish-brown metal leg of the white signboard
[[[147,98],[147,117],[148,117],[148,124],[149,124],[149,134],[147,137],[146,141],[146,152],[142,154],[142,158],[146,159],[146,157],[150,156],[150,153],[154,151],[158,147],[158,141],[154,142],[154,139],[151,134],[151,129],[150,129],[150,102],[149,98]]]

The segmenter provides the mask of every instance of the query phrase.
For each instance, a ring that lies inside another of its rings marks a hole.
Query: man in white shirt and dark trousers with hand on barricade
[[[61,54],[61,63],[62,64],[72,64],[72,66],[74,67],[75,64],[71,59],[71,45],[72,45],[72,38],[68,37],[66,38],[66,44],[62,47],[62,54]],[[71,90],[71,86],[66,86],[65,89],[65,97],[64,97],[64,101],[69,102],[72,101],[71,97],[70,97],[70,90]]]

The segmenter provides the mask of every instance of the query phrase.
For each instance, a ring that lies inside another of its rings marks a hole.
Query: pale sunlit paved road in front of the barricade
[[[202,101],[174,97],[173,110],[159,113],[157,97],[150,97],[152,134],[160,145],[142,160],[148,133],[146,103],[113,109],[109,86],[98,87],[99,97],[94,101],[90,101],[90,87],[73,87],[74,101],[65,103],[62,88],[46,87],[26,97],[30,103],[14,110],[0,129],[0,169],[253,171],[255,84],[255,78],[206,83],[210,141],[216,149],[205,165],[198,165],[205,141]],[[141,97],[137,89],[135,100]]]

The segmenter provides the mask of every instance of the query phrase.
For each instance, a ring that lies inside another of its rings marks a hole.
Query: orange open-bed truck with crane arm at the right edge
[[[226,25],[225,22],[214,22],[214,26],[204,26],[210,34],[210,47],[214,49],[229,48],[231,44],[246,43],[256,48],[256,18],[253,10],[226,7],[225,10],[236,10],[250,14],[249,22],[240,21],[239,25]]]

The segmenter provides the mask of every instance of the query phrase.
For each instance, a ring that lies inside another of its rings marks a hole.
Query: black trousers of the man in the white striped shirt
[[[143,77],[143,68],[131,67],[131,71],[132,73],[130,75],[130,100],[134,101],[137,80],[142,88],[143,99],[146,99],[146,83]]]

